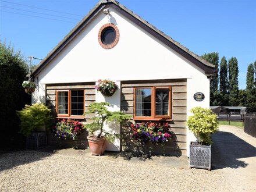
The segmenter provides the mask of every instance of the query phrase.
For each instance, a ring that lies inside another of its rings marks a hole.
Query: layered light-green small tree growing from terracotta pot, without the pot
[[[111,112],[109,111],[106,106],[110,106],[108,102],[95,102],[93,104],[90,104],[88,106],[88,112],[84,113],[84,115],[89,113],[95,113],[95,116],[92,118],[93,122],[89,123],[87,125],[84,125],[84,127],[93,134],[95,131],[99,131],[97,133],[97,138],[101,138],[102,133],[104,133],[104,137],[106,140],[113,141],[115,137],[119,137],[119,134],[111,133],[111,131],[106,131],[104,129],[104,123],[110,123],[110,122],[119,122],[120,125],[124,125],[127,120],[131,118],[130,115],[126,115],[123,112],[115,111]]]

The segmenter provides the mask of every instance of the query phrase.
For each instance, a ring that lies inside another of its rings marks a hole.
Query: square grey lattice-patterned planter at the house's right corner
[[[211,170],[211,145],[190,144],[190,168]]]

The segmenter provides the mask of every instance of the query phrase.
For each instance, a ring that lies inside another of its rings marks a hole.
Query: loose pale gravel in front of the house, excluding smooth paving
[[[236,191],[226,175],[40,151],[0,155],[0,191]]]

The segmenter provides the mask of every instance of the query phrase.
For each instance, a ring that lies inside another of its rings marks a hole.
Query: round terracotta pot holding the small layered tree
[[[92,155],[103,155],[106,150],[106,140],[104,137],[88,136],[88,143]]]

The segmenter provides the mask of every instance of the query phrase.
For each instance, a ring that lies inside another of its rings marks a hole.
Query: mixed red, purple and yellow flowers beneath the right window
[[[148,141],[152,143],[165,143],[172,137],[168,123],[142,122],[141,124],[131,124],[131,129],[133,130],[131,138],[140,140],[142,144]]]

